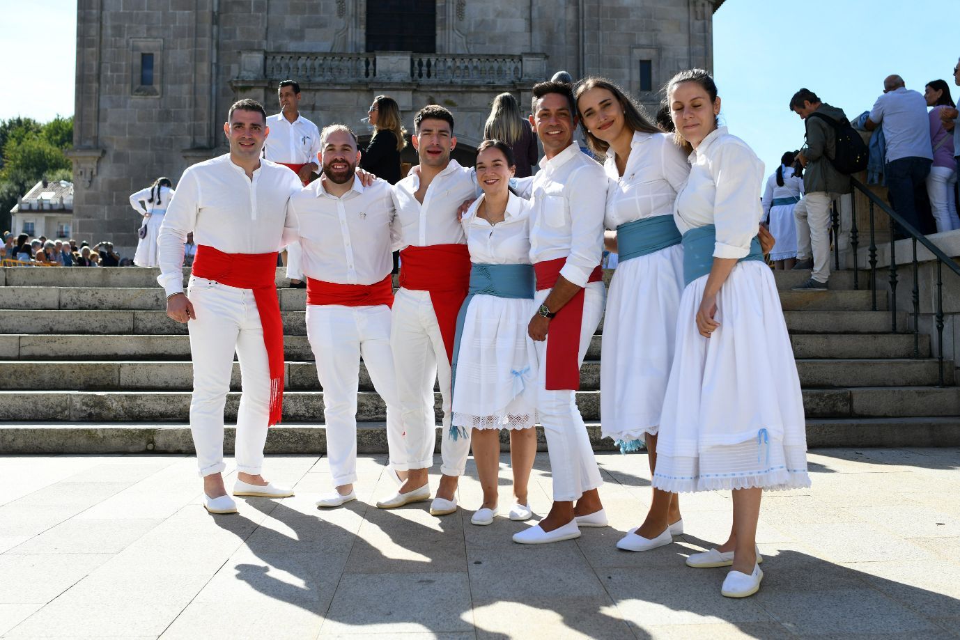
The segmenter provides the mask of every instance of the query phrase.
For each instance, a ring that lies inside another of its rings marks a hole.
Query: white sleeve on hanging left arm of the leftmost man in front
[[[201,208],[200,181],[192,167],[187,168],[180,177],[177,192],[167,206],[163,223],[156,238],[157,259],[160,274],[156,281],[166,291],[167,296],[183,293],[183,243],[186,234],[197,225],[197,214]]]

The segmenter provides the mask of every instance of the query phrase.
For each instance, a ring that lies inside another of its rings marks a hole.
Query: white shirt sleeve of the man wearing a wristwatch
[[[570,254],[560,274],[586,287],[590,273],[603,259],[603,217],[607,208],[607,174],[600,165],[577,169],[567,180],[570,213]]]

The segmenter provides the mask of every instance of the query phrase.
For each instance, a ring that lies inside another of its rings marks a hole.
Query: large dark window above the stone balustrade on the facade
[[[368,2],[367,51],[436,53],[436,0]]]

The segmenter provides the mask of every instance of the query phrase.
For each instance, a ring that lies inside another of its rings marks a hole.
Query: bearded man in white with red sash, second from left
[[[353,131],[330,125],[321,133],[323,173],[291,197],[303,273],[307,276],[306,333],[324,388],[326,457],[332,493],[318,507],[339,507],[356,493],[356,412],[360,357],[387,404],[391,465],[405,468],[403,423],[396,406],[390,309],[393,250],[399,244],[390,183],[365,187],[356,176],[360,153]]]

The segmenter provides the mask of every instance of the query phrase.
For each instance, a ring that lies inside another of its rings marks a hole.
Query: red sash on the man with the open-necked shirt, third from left
[[[400,286],[430,292],[444,338],[446,358],[453,362],[457,314],[470,289],[470,253],[467,245],[407,247],[400,251]]]

